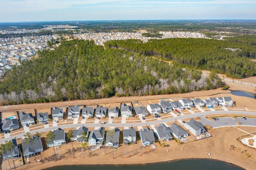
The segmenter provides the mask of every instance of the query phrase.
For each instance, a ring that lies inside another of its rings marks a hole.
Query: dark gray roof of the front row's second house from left
[[[39,142],[38,142],[38,139],[36,139],[35,136],[32,136],[32,138],[34,138],[34,143],[32,143],[32,145],[30,143],[26,144],[24,143],[24,140],[22,140],[22,150],[23,150],[23,156],[27,156],[27,155],[30,155],[32,153],[36,153],[35,151],[40,149],[40,148],[43,148],[43,145],[42,145],[42,140],[41,138],[38,138],[39,139]],[[40,145],[39,145],[40,143]],[[32,149],[34,148],[34,150]]]

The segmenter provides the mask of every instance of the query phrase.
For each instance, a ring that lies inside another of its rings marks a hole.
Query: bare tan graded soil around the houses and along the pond
[[[219,75],[221,78],[224,75]],[[251,77],[248,79],[239,79],[239,81],[245,81],[248,83],[256,83],[256,78]],[[230,86],[230,90],[242,90],[251,93],[256,93],[255,87],[250,85],[242,85],[234,83],[232,81],[225,81]],[[174,98],[196,98],[206,99],[208,97],[224,97],[230,96],[232,100],[236,102],[236,106],[232,109],[239,109],[245,111],[246,108],[250,111],[256,111],[255,99],[248,97],[240,97],[230,94],[230,91],[222,91],[220,89],[214,89],[209,91],[193,91],[185,94],[172,94],[172,95],[154,95],[154,96],[141,96],[141,97],[112,97],[107,99],[94,99],[94,100],[76,100],[76,101],[64,101],[56,103],[35,103],[26,105],[11,105],[1,106],[0,111],[22,111],[33,109],[47,109],[50,107],[58,106],[70,106],[70,105],[106,105],[106,107],[112,107],[116,103],[130,102],[133,100],[140,101],[143,105],[149,101],[159,101],[159,99],[174,99]],[[246,108],[244,106],[246,105]],[[229,109],[229,108],[228,108]],[[8,117],[9,112],[2,113],[3,117]],[[225,113],[224,113],[225,114]],[[12,116],[13,114],[10,114]],[[132,118],[136,119],[136,118]],[[170,123],[168,123],[170,125]],[[86,125],[85,125],[86,126]],[[150,146],[142,147],[139,155],[140,139],[137,137],[137,144],[124,145],[122,143],[122,132],[120,134],[120,145],[117,149],[114,149],[114,158],[112,148],[106,149],[104,154],[104,147],[92,151],[92,156],[88,156],[87,148],[84,148],[82,152],[81,143],[73,142],[74,156],[72,158],[70,149],[71,142],[67,142],[66,146],[61,145],[56,150],[59,154],[59,160],[54,160],[53,148],[44,147],[42,152],[42,162],[35,162],[34,157],[30,157],[29,161],[25,159],[25,164],[18,167],[18,170],[24,169],[44,169],[52,166],[60,165],[78,165],[78,164],[146,164],[153,162],[170,161],[184,158],[211,158],[226,161],[232,164],[236,164],[247,170],[252,170],[256,164],[256,150],[249,148],[240,143],[237,138],[246,132],[252,132],[256,130],[256,127],[223,127],[223,128],[208,128],[208,132],[212,134],[210,138],[204,138],[194,141],[189,138],[189,141],[185,144],[178,144],[175,140],[165,142],[165,147],[161,147],[157,142],[155,143],[156,149],[152,149]],[[68,132],[69,129],[65,129]],[[92,128],[89,128],[92,130]],[[120,130],[123,130],[122,127]],[[138,130],[136,128],[136,130]],[[137,132],[138,133],[138,132]],[[45,140],[46,132],[42,133],[42,140]],[[138,136],[138,134],[137,134]],[[17,139],[20,144],[21,139]],[[43,142],[44,143],[44,142]],[[209,156],[207,153],[211,153]],[[40,158],[40,155],[38,155]],[[12,162],[10,162],[12,164]],[[8,162],[6,162],[8,167]],[[16,164],[20,164],[17,160]],[[2,168],[5,169],[6,165],[2,162]]]

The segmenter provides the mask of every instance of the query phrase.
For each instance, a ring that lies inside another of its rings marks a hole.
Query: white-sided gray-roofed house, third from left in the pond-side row
[[[65,130],[63,130],[61,128],[57,128],[56,130],[53,130],[53,133],[55,135],[55,138],[54,138],[53,142],[50,139],[48,139],[46,141],[47,147],[66,144],[66,141],[65,141],[65,139],[66,139],[65,138]]]

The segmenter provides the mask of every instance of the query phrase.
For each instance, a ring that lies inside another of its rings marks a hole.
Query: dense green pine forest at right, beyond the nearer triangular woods
[[[233,78],[256,75],[256,65],[250,61],[256,58],[256,46],[242,42],[168,38],[147,43],[140,40],[110,41],[105,43],[105,47],[155,56],[196,69],[214,70]],[[237,50],[232,52],[227,48]]]

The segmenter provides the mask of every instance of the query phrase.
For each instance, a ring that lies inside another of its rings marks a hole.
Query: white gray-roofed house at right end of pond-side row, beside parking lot
[[[204,126],[198,121],[195,121],[193,118],[190,119],[190,121],[186,122],[184,124],[184,127],[187,128],[190,132],[192,132],[195,136],[199,134],[204,134],[206,132]]]

